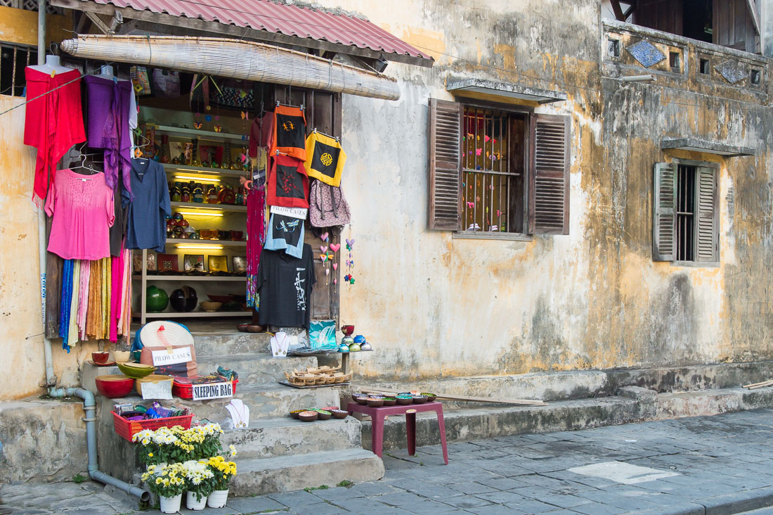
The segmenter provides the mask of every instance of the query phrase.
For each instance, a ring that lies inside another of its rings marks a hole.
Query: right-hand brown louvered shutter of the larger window
[[[570,118],[535,115],[529,232],[569,234]]]

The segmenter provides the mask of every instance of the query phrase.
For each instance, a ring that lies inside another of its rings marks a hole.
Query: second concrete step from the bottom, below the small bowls
[[[355,418],[301,422],[291,417],[250,421],[246,430],[226,430],[223,448],[234,445],[238,461],[274,456],[303,455],[321,451],[362,448],[360,423]]]

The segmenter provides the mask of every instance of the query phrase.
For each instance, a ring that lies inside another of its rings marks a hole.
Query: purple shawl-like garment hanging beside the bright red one
[[[131,197],[131,131],[129,129],[131,81],[117,81],[94,75],[83,78],[87,86],[89,146],[104,149],[107,185],[119,180]]]

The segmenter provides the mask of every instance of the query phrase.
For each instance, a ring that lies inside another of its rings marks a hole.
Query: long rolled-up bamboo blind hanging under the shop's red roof
[[[111,60],[247,81],[288,84],[397,100],[397,81],[279,46],[205,37],[79,36],[62,42],[73,56]]]

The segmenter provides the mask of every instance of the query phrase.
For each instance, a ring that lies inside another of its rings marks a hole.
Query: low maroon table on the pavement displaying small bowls
[[[445,445],[445,422],[443,420],[443,405],[437,401],[424,404],[407,404],[407,406],[383,406],[369,407],[356,402],[351,402],[346,407],[349,414],[361,413],[370,415],[372,421],[370,429],[370,447],[381,458],[383,455],[384,419],[389,415],[405,415],[405,429],[408,437],[408,454],[416,454],[416,414],[424,411],[434,411],[438,414],[438,427],[440,428],[440,443],[443,448],[443,459],[448,465],[448,448]]]

